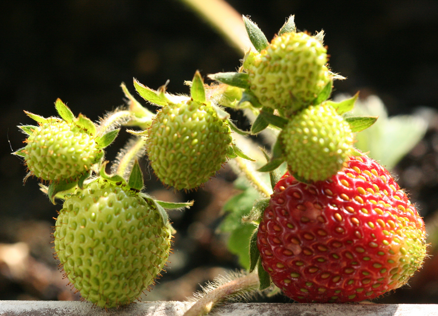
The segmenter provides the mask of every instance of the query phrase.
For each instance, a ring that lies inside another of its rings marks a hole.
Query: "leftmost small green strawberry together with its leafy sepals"
[[[24,157],[28,176],[35,175],[54,184],[78,182],[82,176],[89,176],[93,165],[101,161],[103,148],[113,142],[118,130],[97,136],[90,119],[82,114],[74,117],[59,98],[55,107],[62,119],[25,111],[38,126],[18,126],[28,138],[26,146],[14,154]]]

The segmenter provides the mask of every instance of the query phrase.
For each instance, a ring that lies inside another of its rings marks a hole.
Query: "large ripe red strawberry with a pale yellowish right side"
[[[326,181],[289,173],[259,225],[263,268],[298,302],[357,302],[399,288],[426,255],[425,228],[392,176],[351,157]]]

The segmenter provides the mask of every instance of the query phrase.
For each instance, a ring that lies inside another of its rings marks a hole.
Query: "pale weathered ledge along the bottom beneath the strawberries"
[[[139,302],[104,309],[85,302],[0,301],[1,316],[182,316],[192,302]],[[217,316],[438,316],[434,304],[289,304],[230,303]]]

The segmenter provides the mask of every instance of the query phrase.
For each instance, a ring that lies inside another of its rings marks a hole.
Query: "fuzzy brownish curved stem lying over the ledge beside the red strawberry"
[[[227,281],[224,283],[224,281]],[[256,273],[230,274],[215,279],[212,284],[203,288],[204,293],[195,294],[198,301],[184,313],[184,316],[203,316],[215,306],[228,300],[255,294],[258,291],[259,281]]]

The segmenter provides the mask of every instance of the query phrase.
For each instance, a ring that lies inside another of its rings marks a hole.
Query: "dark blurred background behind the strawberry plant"
[[[348,77],[335,82],[335,93],[360,90],[362,98],[378,95],[389,115],[409,114],[419,106],[438,109],[438,2],[229,3],[251,15],[268,39],[290,14],[296,14],[300,30],[314,33],[324,28],[330,65]],[[233,71],[241,57],[177,0],[1,1],[0,299],[79,298],[66,287],[50,249],[52,217],[60,205],[49,203],[36,179],[23,186],[25,168],[11,155],[25,139],[16,126],[32,123],[23,110],[52,116],[53,102],[61,98],[75,115],[82,112],[96,120],[123,105],[122,81],[133,92],[132,77],[154,89],[170,79],[168,91],[188,93],[183,82],[191,80],[196,69],[203,76]],[[247,127],[241,113],[233,116]],[[430,227],[437,222],[433,218],[438,209],[437,122],[430,124],[426,137],[394,170]],[[120,133],[107,158],[113,159],[127,138],[127,133]],[[142,163],[148,169],[147,162]],[[224,201],[238,192],[229,168],[205,189],[188,194],[164,190],[150,170],[145,176],[150,179],[148,192],[160,200],[196,200],[189,211],[170,213],[178,231],[175,254],[170,269],[146,299],[184,300],[199,289],[199,283],[239,267],[224,237],[215,234]],[[431,247],[431,251],[435,250]],[[413,278],[411,288],[377,301],[438,303],[437,263],[432,257]],[[265,301],[289,300],[276,296]]]

